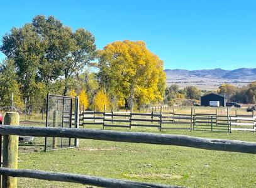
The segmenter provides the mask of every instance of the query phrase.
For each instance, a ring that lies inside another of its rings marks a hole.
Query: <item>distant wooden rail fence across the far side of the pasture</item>
[[[171,112],[133,113],[133,112],[81,112],[81,127],[88,125],[101,125],[106,127],[155,127],[159,130],[196,130],[211,132],[231,132],[232,130],[256,130],[256,117],[254,115],[226,115],[215,113],[198,113],[191,108],[191,113]]]

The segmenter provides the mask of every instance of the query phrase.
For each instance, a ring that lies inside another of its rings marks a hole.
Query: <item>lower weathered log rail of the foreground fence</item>
[[[72,183],[78,183],[78,184],[84,184],[84,185],[95,185],[100,187],[179,188],[179,186],[175,186],[175,185],[159,185],[159,184],[150,184],[145,182],[135,182],[130,180],[118,180],[118,179],[108,179],[104,177],[94,177],[90,175],[45,172],[40,170],[26,170],[26,169],[18,170],[18,169],[8,169],[8,168],[0,167],[0,174],[8,175],[11,177],[28,177],[33,179],[72,182]]]

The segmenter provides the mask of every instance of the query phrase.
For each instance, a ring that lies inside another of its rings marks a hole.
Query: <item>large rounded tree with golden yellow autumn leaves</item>
[[[142,41],[116,41],[99,53],[99,79],[118,103],[130,105],[162,101],[165,90],[163,61]]]

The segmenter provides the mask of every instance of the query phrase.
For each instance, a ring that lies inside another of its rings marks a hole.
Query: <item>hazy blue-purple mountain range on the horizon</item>
[[[167,76],[167,84],[177,84],[181,87],[195,85],[201,89],[216,89],[222,83],[230,83],[237,86],[247,85],[256,80],[256,68],[238,68],[236,70],[223,70],[221,68],[211,70],[164,70]]]

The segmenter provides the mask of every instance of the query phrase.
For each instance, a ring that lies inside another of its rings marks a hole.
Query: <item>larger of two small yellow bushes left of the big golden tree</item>
[[[97,91],[94,100],[93,100],[93,106],[95,110],[103,112],[104,105],[106,105],[106,108],[109,107],[109,98],[106,93],[104,93],[103,90]]]

